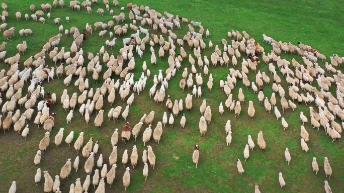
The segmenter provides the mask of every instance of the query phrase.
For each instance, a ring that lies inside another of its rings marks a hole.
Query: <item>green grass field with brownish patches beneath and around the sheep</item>
[[[24,15],[31,15],[30,5],[34,1],[29,0],[5,0],[3,1],[8,5],[9,21],[8,29],[10,27],[16,27],[15,37],[10,39],[7,44],[7,57],[10,57],[17,53],[16,46],[25,40],[28,44],[28,50],[25,55],[21,57],[21,62],[24,61],[31,55],[41,51],[43,45],[51,38],[58,34],[58,27],[53,22],[53,18],[60,17],[60,24],[63,25],[64,29],[70,29],[75,26],[78,29],[84,29],[86,23],[94,24],[95,22],[104,22],[112,20],[110,14],[106,11],[103,1],[99,1],[97,6],[92,5],[93,14],[88,15],[87,11],[81,8],[81,12],[71,11],[68,8],[69,1],[65,1],[66,8],[61,9],[60,7],[52,8],[51,17],[48,20],[45,13],[46,23],[43,25],[40,22],[34,22],[31,18],[30,21],[25,21]],[[51,2],[45,2],[50,3]],[[81,2],[80,2],[81,3]],[[110,4],[110,9],[114,10],[114,15],[120,13],[120,7],[126,7],[129,2],[120,1],[119,8],[115,8],[113,4]],[[208,43],[211,40],[215,45],[219,45],[221,50],[221,39],[226,38],[228,41],[227,31],[238,30],[242,32],[245,30],[252,38],[259,42],[268,53],[272,49],[272,46],[263,43],[262,34],[266,33],[268,36],[282,42],[290,41],[294,45],[301,41],[304,44],[311,45],[312,48],[320,50],[321,53],[328,56],[337,53],[342,56],[343,53],[339,52],[342,48],[342,38],[340,32],[344,30],[344,26],[340,25],[344,20],[342,15],[343,7],[338,6],[342,4],[342,1],[135,1],[133,4],[138,6],[148,6],[150,9],[163,13],[164,11],[179,15],[180,17],[187,18],[190,21],[202,22],[205,29],[209,29],[211,37],[206,39],[204,42],[207,44],[207,51],[202,52],[203,55],[207,55],[210,59],[211,51],[209,51]],[[41,3],[34,3],[36,10],[41,10]],[[105,10],[104,17],[97,15],[96,11],[98,8]],[[22,13],[22,21],[17,22],[15,13],[19,11]],[[129,24],[129,11],[125,9],[126,23]],[[66,23],[65,17],[70,18],[70,23]],[[32,29],[32,36],[19,36],[20,29]],[[148,28],[147,26],[145,28]],[[199,28],[195,28],[198,32]],[[150,29],[152,32],[153,30]],[[182,38],[188,31],[188,26],[183,24],[182,30],[174,30],[179,38]],[[104,45],[105,41],[110,40],[109,33],[106,37],[100,38],[98,33],[100,30],[94,31],[93,36],[88,36],[88,39],[82,43],[82,49],[85,52],[92,52],[96,54],[100,48]],[[129,31],[126,37],[130,37],[130,34],[134,32]],[[160,35],[161,32],[158,33]],[[141,38],[144,36],[141,34]],[[116,49],[109,53],[117,55],[119,49],[123,46],[123,36],[116,41]],[[65,37],[61,39],[59,49],[64,46],[65,50],[69,51],[70,46],[73,42],[72,37]],[[185,43],[186,44],[186,43]],[[177,44],[176,44],[177,45]],[[176,53],[179,53],[180,49],[177,45]],[[155,48],[156,53],[158,48]],[[190,52],[188,46],[185,46],[185,50]],[[191,53],[191,52],[190,52]],[[157,54],[156,54],[157,55]],[[243,56],[243,54],[241,54]],[[290,61],[291,56],[282,54],[282,58],[286,58]],[[46,64],[53,66],[50,63],[49,56],[46,54]],[[247,58],[246,56],[243,56]],[[302,63],[302,59],[299,56],[293,56]],[[88,64],[87,57],[85,58],[84,66]],[[156,123],[162,120],[163,112],[166,111],[164,105],[154,104],[152,99],[148,98],[149,88],[153,85],[153,75],[158,74],[159,69],[168,68],[167,57],[164,60],[157,59],[157,66],[153,68],[150,65],[150,53],[149,47],[146,46],[146,53],[142,60],[136,57],[136,68],[135,68],[135,81],[138,81],[139,76],[142,72],[142,61],[147,61],[148,69],[150,69],[152,76],[148,78],[146,89],[142,94],[137,95],[135,93],[135,100],[132,107],[129,110],[129,117],[127,121],[130,122],[132,127],[139,122],[143,114],[155,111],[155,118],[152,124],[152,129],[155,128]],[[102,61],[102,60],[101,60]],[[329,62],[329,59],[327,59]],[[323,62],[318,62],[322,68],[324,68]],[[241,62],[238,62],[238,66],[235,69],[241,70]],[[8,70],[9,67],[3,62],[0,62],[2,69]],[[191,71],[191,65],[188,61],[182,62],[182,66],[188,67],[189,72]],[[232,65],[230,66],[232,67]],[[22,70],[23,65],[20,66]],[[203,74],[203,70],[196,67],[199,73]],[[340,67],[342,69],[342,67]],[[153,151],[156,155],[155,170],[153,171],[149,167],[149,175],[147,181],[142,176],[142,151],[144,149],[142,143],[142,133],[146,126],[142,126],[141,132],[138,137],[138,141],[134,143],[134,140],[130,140],[127,145],[122,142],[118,144],[118,162],[116,169],[116,178],[112,189],[110,190],[108,184],[106,184],[106,192],[124,191],[122,176],[125,172],[124,168],[121,167],[122,154],[125,149],[128,149],[129,155],[132,151],[132,146],[137,145],[139,153],[139,161],[137,169],[130,170],[131,183],[127,188],[129,192],[253,192],[254,185],[260,186],[261,192],[323,192],[323,181],[326,180],[323,169],[323,157],[327,156],[331,164],[333,173],[329,180],[329,185],[333,192],[340,192],[343,189],[344,183],[344,164],[343,163],[343,148],[342,141],[336,140],[332,143],[331,138],[324,134],[324,130],[320,129],[318,132],[316,129],[312,129],[312,126],[308,122],[305,124],[310,140],[308,142],[309,152],[305,153],[301,150],[300,146],[300,126],[299,112],[304,112],[309,119],[309,106],[304,104],[298,105],[298,108],[292,112],[291,109],[283,115],[289,124],[289,128],[283,131],[281,121],[277,121],[274,113],[268,114],[265,112],[264,106],[260,106],[257,100],[257,94],[253,93],[251,89],[245,90],[242,82],[237,79],[237,84],[232,91],[233,100],[237,101],[237,94],[239,88],[243,88],[245,94],[245,103],[242,106],[242,111],[238,119],[234,117],[233,112],[227,112],[220,116],[218,114],[218,106],[220,102],[224,104],[226,100],[226,94],[220,89],[219,81],[226,79],[229,67],[217,66],[215,69],[210,67],[209,73],[212,73],[214,78],[214,86],[211,93],[207,92],[206,82],[208,81],[203,74],[203,86],[202,86],[202,99],[193,99],[193,109],[189,113],[185,110],[183,113],[186,114],[187,125],[184,129],[180,127],[181,115],[175,119],[175,125],[173,128],[168,126],[163,128],[162,138],[160,144],[154,142],[151,139],[148,145],[153,147]],[[261,72],[267,72],[271,79],[272,75],[269,73],[268,66],[259,64],[258,69]],[[103,72],[106,67],[103,67]],[[282,78],[282,85],[287,90],[287,83],[285,77],[279,73]],[[101,87],[103,82],[103,74],[100,76],[98,84],[92,80],[92,75],[87,77],[90,79],[90,87],[96,89]],[[112,76],[113,79],[117,80],[117,75]],[[166,89],[166,95],[169,94],[171,99],[185,101],[188,89],[186,88],[182,92],[179,88],[179,82],[182,78],[182,71],[179,71],[174,79],[168,82],[169,87]],[[249,71],[248,78],[250,81],[255,80],[255,74],[251,70]],[[77,77],[73,77],[71,85],[67,88],[69,96],[73,92],[80,92],[73,85]],[[195,81],[195,80],[194,80]],[[316,82],[316,81],[314,81]],[[269,86],[264,85],[264,94],[270,96],[273,92],[270,84]],[[332,84],[333,85],[333,84]],[[25,84],[23,96],[27,92]],[[69,134],[70,131],[74,131],[74,141],[78,134],[83,131],[84,143],[87,143],[91,137],[95,138],[95,141],[100,142],[100,150],[95,160],[98,160],[99,154],[102,153],[104,157],[104,163],[109,165],[109,155],[111,153],[110,138],[115,128],[119,130],[125,124],[125,121],[121,118],[119,121],[113,124],[113,121],[109,121],[107,113],[111,109],[108,105],[107,100],[104,101],[104,123],[100,129],[94,126],[94,119],[96,114],[91,115],[90,124],[85,124],[84,118],[78,113],[78,107],[74,112],[74,118],[71,124],[67,125],[66,116],[67,113],[63,110],[60,104],[60,96],[65,85],[63,84],[63,78],[54,81],[44,81],[42,86],[45,88],[45,92],[55,92],[57,94],[57,103],[50,112],[56,112],[57,117],[55,118],[55,129],[50,134],[50,146],[42,156],[40,168],[47,170],[53,177],[60,173],[61,167],[65,164],[68,158],[74,161],[76,152],[73,146],[68,147],[64,142],[58,148],[56,148],[53,140],[58,132],[58,129],[63,127],[64,137]],[[313,83],[313,86],[317,86]],[[335,86],[330,89],[332,94],[335,94]],[[299,91],[299,93],[302,93]],[[278,95],[278,94],[277,94]],[[288,95],[288,94],[286,94]],[[6,97],[3,97],[4,103]],[[107,99],[107,96],[106,96]],[[198,123],[200,119],[199,107],[202,104],[202,100],[207,99],[207,104],[212,109],[212,122],[208,126],[208,131],[205,137],[201,137]],[[289,100],[289,95],[286,96]],[[40,99],[39,101],[41,101]],[[248,101],[253,101],[255,108],[255,117],[253,121],[250,121],[247,115]],[[280,96],[277,96],[278,108],[280,111]],[[116,102],[114,107],[122,106],[123,109],[126,103],[120,102],[120,96],[116,93]],[[312,105],[313,107],[314,104]],[[113,107],[113,108],[114,108]],[[25,108],[21,108],[23,113]],[[37,114],[35,113],[33,118]],[[5,116],[4,116],[5,117]],[[4,120],[4,117],[2,120]],[[232,124],[232,144],[226,146],[226,133],[225,124],[227,120],[231,120]],[[310,119],[309,119],[310,120]],[[338,121],[340,123],[340,120]],[[43,192],[44,189],[44,177],[38,186],[34,183],[34,176],[36,174],[36,167],[33,163],[34,156],[38,150],[39,141],[44,136],[44,130],[42,126],[37,128],[33,121],[29,122],[30,135],[25,140],[22,136],[17,135],[11,127],[11,131],[4,135],[0,132],[0,192],[7,192],[11,186],[11,181],[17,181],[17,192]],[[259,131],[263,131],[264,138],[267,143],[266,152],[263,154],[259,147],[256,145],[253,151],[250,151],[249,159],[244,162],[243,149],[247,143],[247,135],[251,135],[254,143],[257,140],[257,134]],[[194,145],[200,146],[200,160],[198,168],[195,168],[195,164],[192,162],[192,153],[194,151]],[[284,158],[285,148],[288,147],[291,153],[291,163],[287,164]],[[83,183],[86,173],[84,172],[83,166],[85,159],[80,156],[79,170],[76,173],[72,169],[68,180],[61,181],[60,189],[62,192],[68,192],[71,183],[75,183],[75,179],[80,177],[81,184]],[[318,175],[312,171],[311,162],[312,158],[316,157],[319,164]],[[236,160],[241,159],[245,172],[243,175],[239,175],[236,168]],[[128,162],[127,166],[130,163]],[[94,167],[94,169],[96,166]],[[108,169],[109,166],[108,166]],[[280,187],[278,181],[278,173],[282,172],[286,181],[286,186]],[[93,176],[93,175],[92,175]],[[91,177],[92,177],[91,176]],[[92,178],[91,178],[92,179]],[[328,180],[328,178],[327,178]],[[90,186],[89,192],[94,192],[93,185]]]

